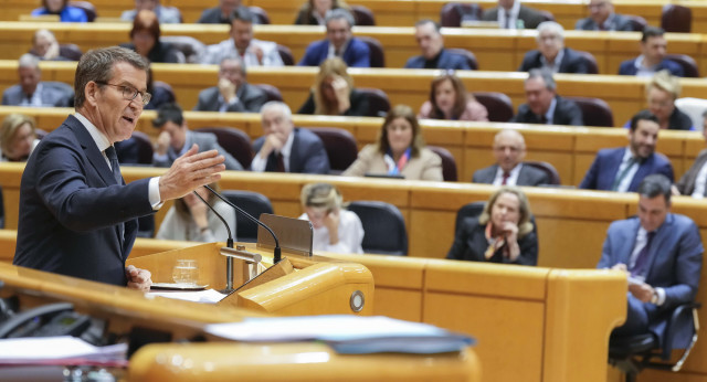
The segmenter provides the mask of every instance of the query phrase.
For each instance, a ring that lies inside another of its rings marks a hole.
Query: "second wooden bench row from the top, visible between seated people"
[[[129,41],[128,23],[55,23],[4,22],[0,24],[0,59],[17,60],[31,47],[33,32],[40,28],[54,31],[62,43],[75,43],[84,52]],[[190,35],[205,44],[229,38],[229,25],[165,24],[162,35]],[[325,38],[324,26],[256,25],[255,38],[288,46],[295,60],[303,57],[313,41]],[[420,54],[412,26],[357,26],[355,35],[370,36],[383,46],[386,65],[403,67],[408,59]],[[535,30],[508,31],[489,29],[444,29],[445,45],[474,52],[479,70],[516,71],[525,53],[537,49]],[[695,59],[701,73],[707,73],[707,46],[701,34],[668,33],[668,52]],[[639,55],[641,34],[637,32],[567,31],[566,45],[594,55],[601,74],[619,73],[622,61]]]

